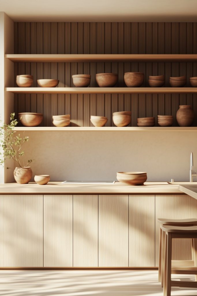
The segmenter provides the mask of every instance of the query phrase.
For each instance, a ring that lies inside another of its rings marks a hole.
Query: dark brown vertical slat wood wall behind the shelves
[[[197,23],[183,22],[15,22],[15,54],[197,54]],[[73,87],[72,74],[91,74],[91,87],[97,86],[95,74],[118,73],[118,86],[125,86],[124,73],[139,71],[149,75],[197,76],[197,62],[73,62],[15,63],[14,76],[32,74],[37,79],[58,78],[59,87]],[[16,85],[15,85],[16,86]],[[43,126],[53,126],[52,115],[71,114],[71,126],[92,126],[90,115],[108,117],[131,110],[131,126],[138,117],[173,115],[180,104],[190,104],[196,114],[196,94],[15,94],[14,112],[40,112]]]

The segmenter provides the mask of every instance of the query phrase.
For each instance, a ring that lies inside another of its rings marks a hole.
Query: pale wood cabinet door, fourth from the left
[[[99,195],[99,267],[128,267],[128,195]]]

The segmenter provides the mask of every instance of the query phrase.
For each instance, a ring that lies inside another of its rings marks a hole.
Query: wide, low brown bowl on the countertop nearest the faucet
[[[118,172],[117,180],[128,185],[143,185],[147,180],[147,173],[142,172]]]

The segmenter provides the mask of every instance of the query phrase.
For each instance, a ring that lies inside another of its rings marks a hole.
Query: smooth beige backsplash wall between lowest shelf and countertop
[[[25,132],[25,158],[51,181],[116,180],[117,171],[146,171],[148,181],[189,181],[190,152],[197,169],[194,132]],[[194,181],[197,178],[194,177]]]

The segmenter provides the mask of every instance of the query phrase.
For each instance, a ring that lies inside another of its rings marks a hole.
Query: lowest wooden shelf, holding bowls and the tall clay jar
[[[15,127],[14,131],[197,131],[197,127],[95,127],[95,126],[84,126],[84,127]]]

